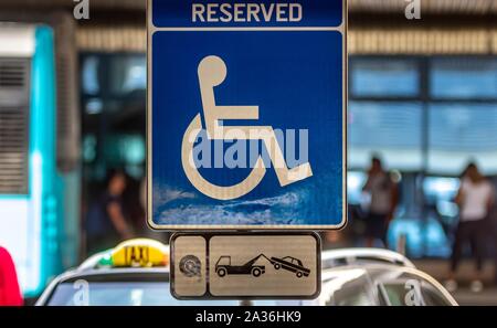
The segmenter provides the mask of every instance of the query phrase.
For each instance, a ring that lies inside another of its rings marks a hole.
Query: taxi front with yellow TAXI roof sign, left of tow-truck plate
[[[239,300],[178,300],[170,294],[169,247],[131,240],[57,276],[36,306],[236,306]],[[254,305],[276,305],[257,300]]]

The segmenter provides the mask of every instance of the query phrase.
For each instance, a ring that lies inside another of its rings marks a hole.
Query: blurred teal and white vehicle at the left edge
[[[0,23],[0,245],[25,297],[73,266],[80,246],[80,169],[60,142],[67,141],[60,117],[70,112],[57,104],[64,74],[56,74],[54,34],[47,25]]]

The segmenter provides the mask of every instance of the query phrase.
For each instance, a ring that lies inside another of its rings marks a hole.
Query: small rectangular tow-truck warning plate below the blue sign
[[[320,242],[315,233],[175,234],[177,298],[315,298]]]

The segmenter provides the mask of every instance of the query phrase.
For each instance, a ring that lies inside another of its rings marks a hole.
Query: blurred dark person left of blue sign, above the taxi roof
[[[127,177],[120,170],[107,174],[105,192],[88,211],[86,219],[87,248],[89,253],[115,246],[119,241],[134,236],[124,211],[123,194]]]

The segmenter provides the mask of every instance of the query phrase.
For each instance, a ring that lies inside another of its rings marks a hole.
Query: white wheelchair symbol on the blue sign
[[[258,106],[218,106],[214,87],[226,78],[228,70],[219,56],[204,57],[198,67],[200,93],[202,97],[205,130],[209,139],[263,140],[281,187],[304,180],[313,176],[308,162],[288,169],[283,151],[276,140],[272,126],[223,126],[220,120],[258,119]],[[234,186],[216,186],[205,180],[199,172],[193,159],[193,146],[199,133],[202,131],[201,114],[199,113],[188,126],[181,146],[181,162],[190,182],[203,194],[218,200],[232,200],[251,192],[261,183],[266,167],[261,155],[248,177]]]

